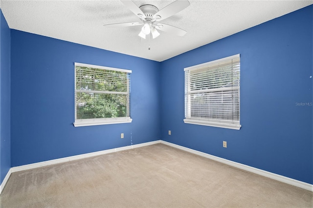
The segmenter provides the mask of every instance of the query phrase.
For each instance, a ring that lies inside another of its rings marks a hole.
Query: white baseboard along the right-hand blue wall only
[[[181,150],[184,150],[184,151],[187,151],[187,152],[190,152],[190,153],[193,153],[193,154],[196,154],[196,155],[199,155],[199,156],[211,159],[211,160],[215,160],[215,161],[218,161],[220,163],[227,164],[229,166],[234,166],[234,167],[237,167],[237,168],[249,171],[249,172],[256,173],[258,175],[262,175],[262,176],[265,176],[265,177],[268,177],[268,178],[271,178],[271,179],[274,179],[274,180],[277,180],[277,181],[280,181],[280,182],[284,182],[286,184],[290,184],[290,185],[295,186],[295,187],[300,187],[300,188],[304,188],[304,189],[313,191],[313,185],[312,184],[308,184],[308,183],[305,183],[305,182],[302,182],[302,181],[298,181],[298,180],[295,180],[295,179],[292,179],[292,178],[288,178],[288,177],[285,177],[285,176],[282,176],[282,175],[271,173],[271,172],[268,172],[268,171],[265,171],[265,170],[262,170],[262,169],[258,169],[258,168],[255,168],[255,167],[246,166],[246,165],[241,164],[241,163],[236,163],[236,162],[233,162],[233,161],[230,161],[230,160],[226,160],[224,158],[216,157],[214,155],[210,155],[210,154],[207,154],[207,153],[204,153],[204,152],[200,152],[200,151],[197,151],[197,150],[194,150],[194,149],[190,149],[190,148],[187,148],[187,147],[184,147],[184,146],[175,145],[173,143],[165,142],[165,141],[162,141],[162,140],[160,141],[160,143],[164,144],[164,145],[172,146],[172,147],[175,147],[175,148],[178,148],[178,149],[181,149]]]

